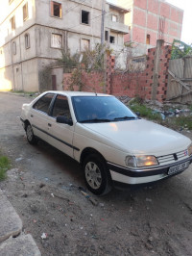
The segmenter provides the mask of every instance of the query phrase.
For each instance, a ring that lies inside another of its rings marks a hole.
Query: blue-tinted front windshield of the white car
[[[72,102],[78,122],[110,122],[138,118],[113,96],[73,96]]]

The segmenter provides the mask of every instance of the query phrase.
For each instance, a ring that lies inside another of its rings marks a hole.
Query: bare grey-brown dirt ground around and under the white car
[[[0,150],[12,160],[0,189],[42,255],[192,255],[191,166],[148,188],[85,196],[75,161],[26,141],[19,115],[31,100],[0,93]]]

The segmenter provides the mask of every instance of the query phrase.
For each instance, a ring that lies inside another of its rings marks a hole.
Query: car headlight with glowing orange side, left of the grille
[[[158,165],[155,156],[127,156],[125,162],[126,166],[130,167],[146,167]]]

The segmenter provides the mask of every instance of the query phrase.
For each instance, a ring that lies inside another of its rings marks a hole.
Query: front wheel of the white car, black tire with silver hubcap
[[[88,155],[83,164],[84,181],[87,189],[97,195],[111,190],[111,177],[105,161],[97,154]]]

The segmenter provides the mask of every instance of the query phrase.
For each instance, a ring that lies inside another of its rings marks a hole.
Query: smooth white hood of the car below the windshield
[[[84,124],[111,145],[132,154],[166,155],[184,150],[190,140],[171,129],[145,119]],[[99,136],[99,137],[100,137]],[[99,138],[98,137],[98,138]]]

